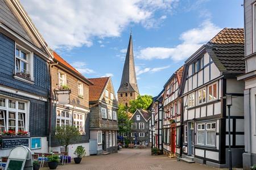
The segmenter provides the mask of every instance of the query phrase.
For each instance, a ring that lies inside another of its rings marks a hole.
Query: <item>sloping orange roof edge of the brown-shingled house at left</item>
[[[65,67],[65,69],[68,69],[69,71],[71,71],[73,73],[73,75],[78,76],[77,78],[79,78],[80,80],[83,80],[88,85],[93,84],[87,78],[85,78],[85,76],[83,76],[81,73],[79,73],[79,71],[77,71],[74,67],[72,67],[67,61],[65,61],[63,58],[61,58],[59,56],[59,54],[57,54],[54,51],[53,51],[53,57],[61,66]]]

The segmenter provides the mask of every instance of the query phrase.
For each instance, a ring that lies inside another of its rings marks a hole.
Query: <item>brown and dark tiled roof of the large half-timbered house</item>
[[[205,49],[222,73],[244,73],[245,45],[242,28],[224,28]]]

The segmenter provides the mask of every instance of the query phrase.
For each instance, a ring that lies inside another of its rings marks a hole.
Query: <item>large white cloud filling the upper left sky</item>
[[[150,27],[155,12],[169,12],[177,0],[30,1],[22,5],[51,48],[91,46],[93,37],[117,37],[131,23]],[[100,42],[99,42],[100,43]]]

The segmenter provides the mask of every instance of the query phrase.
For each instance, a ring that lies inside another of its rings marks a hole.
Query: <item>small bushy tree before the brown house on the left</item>
[[[65,147],[65,151],[68,151],[68,146],[79,139],[80,132],[76,126],[66,125],[66,126],[57,126],[55,137],[60,143],[60,146]]]

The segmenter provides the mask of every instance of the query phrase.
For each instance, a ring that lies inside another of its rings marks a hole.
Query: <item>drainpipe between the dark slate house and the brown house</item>
[[[55,95],[52,93],[52,67],[58,65],[57,63],[49,63],[49,79],[50,79],[50,96],[49,96],[49,141],[48,141],[48,152],[51,152],[51,145],[52,145],[52,128],[51,128],[51,121],[52,121],[52,113],[54,109],[54,100]],[[53,98],[52,98],[53,96]]]

